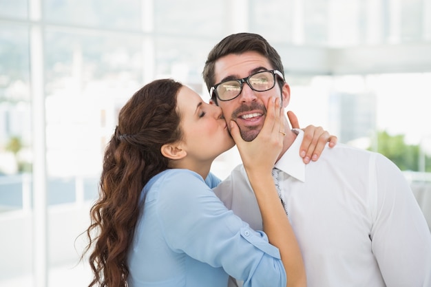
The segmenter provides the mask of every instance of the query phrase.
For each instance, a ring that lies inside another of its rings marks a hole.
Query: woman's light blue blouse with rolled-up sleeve
[[[129,287],[286,286],[280,252],[187,169],[159,173],[143,189],[143,210],[129,248]]]

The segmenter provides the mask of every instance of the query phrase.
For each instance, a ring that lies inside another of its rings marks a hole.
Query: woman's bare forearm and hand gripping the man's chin
[[[264,127],[255,140],[242,140],[238,125],[234,122],[231,122],[231,134],[255,192],[262,213],[264,232],[269,242],[280,250],[287,286],[306,286],[302,254],[271,176],[284,138],[284,134],[280,132],[284,131],[284,111],[280,110],[280,99],[270,99],[267,111]]]

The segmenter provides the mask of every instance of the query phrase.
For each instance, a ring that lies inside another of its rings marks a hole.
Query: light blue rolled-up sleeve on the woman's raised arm
[[[197,173],[174,173],[160,189],[158,220],[172,250],[222,267],[244,286],[286,286],[278,248],[228,210]]]

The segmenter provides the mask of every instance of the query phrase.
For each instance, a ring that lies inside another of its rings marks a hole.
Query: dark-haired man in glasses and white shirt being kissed
[[[227,36],[209,52],[211,100],[244,140],[264,123],[268,97],[290,100],[280,55],[262,36]],[[384,156],[338,144],[317,162],[299,156],[303,132],[288,129],[275,163],[280,198],[304,257],[308,286],[431,286],[431,235],[399,169]],[[228,208],[262,229],[242,166],[215,188]]]

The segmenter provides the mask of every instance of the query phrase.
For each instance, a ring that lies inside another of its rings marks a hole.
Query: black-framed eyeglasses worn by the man
[[[265,92],[275,86],[275,75],[284,81],[283,74],[278,70],[261,71],[251,74],[246,78],[227,80],[213,85],[209,89],[209,94],[212,98],[213,93],[215,93],[217,98],[222,101],[233,100],[237,96],[240,96],[244,83],[247,83],[253,91]]]

